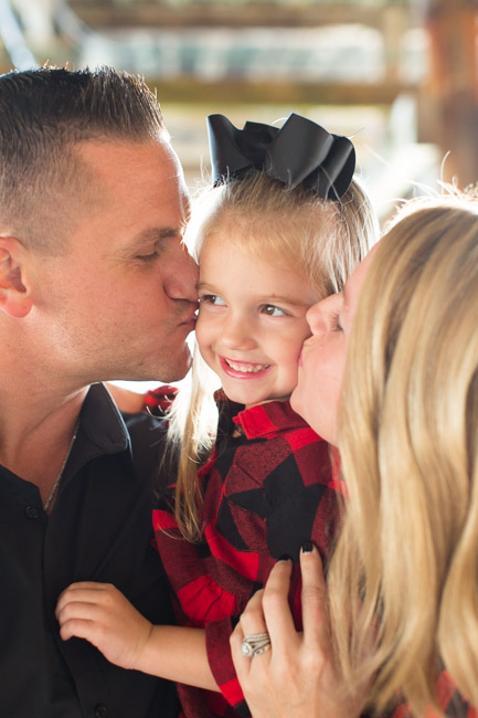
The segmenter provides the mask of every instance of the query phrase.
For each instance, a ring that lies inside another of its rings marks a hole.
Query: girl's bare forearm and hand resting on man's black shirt
[[[85,638],[123,668],[219,690],[202,629],[152,625],[109,583],[72,583],[55,613],[63,641]]]

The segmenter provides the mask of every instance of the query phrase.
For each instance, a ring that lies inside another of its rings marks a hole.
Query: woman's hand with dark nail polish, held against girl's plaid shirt
[[[300,566],[304,633],[295,630],[287,601],[291,561],[278,561],[231,636],[237,677],[254,718],[354,718],[361,700],[343,693],[334,668],[327,587],[315,547],[301,552]],[[266,631],[270,651],[246,658],[244,636]]]

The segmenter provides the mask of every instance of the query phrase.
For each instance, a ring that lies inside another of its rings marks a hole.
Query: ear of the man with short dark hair
[[[0,309],[20,319],[32,308],[25,258],[26,251],[14,236],[0,236]]]

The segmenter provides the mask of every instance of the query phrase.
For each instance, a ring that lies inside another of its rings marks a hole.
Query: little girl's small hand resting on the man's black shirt
[[[72,583],[55,610],[63,641],[85,638],[117,666],[135,668],[151,635],[149,623],[109,583]]]

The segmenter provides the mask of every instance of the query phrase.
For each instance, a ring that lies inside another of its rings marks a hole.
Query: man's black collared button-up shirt
[[[95,384],[50,517],[36,486],[0,467],[0,718],[177,716],[172,684],[63,642],[54,615],[70,583],[102,581],[153,623],[172,623],[150,545],[162,442],[158,419],[124,420]]]

